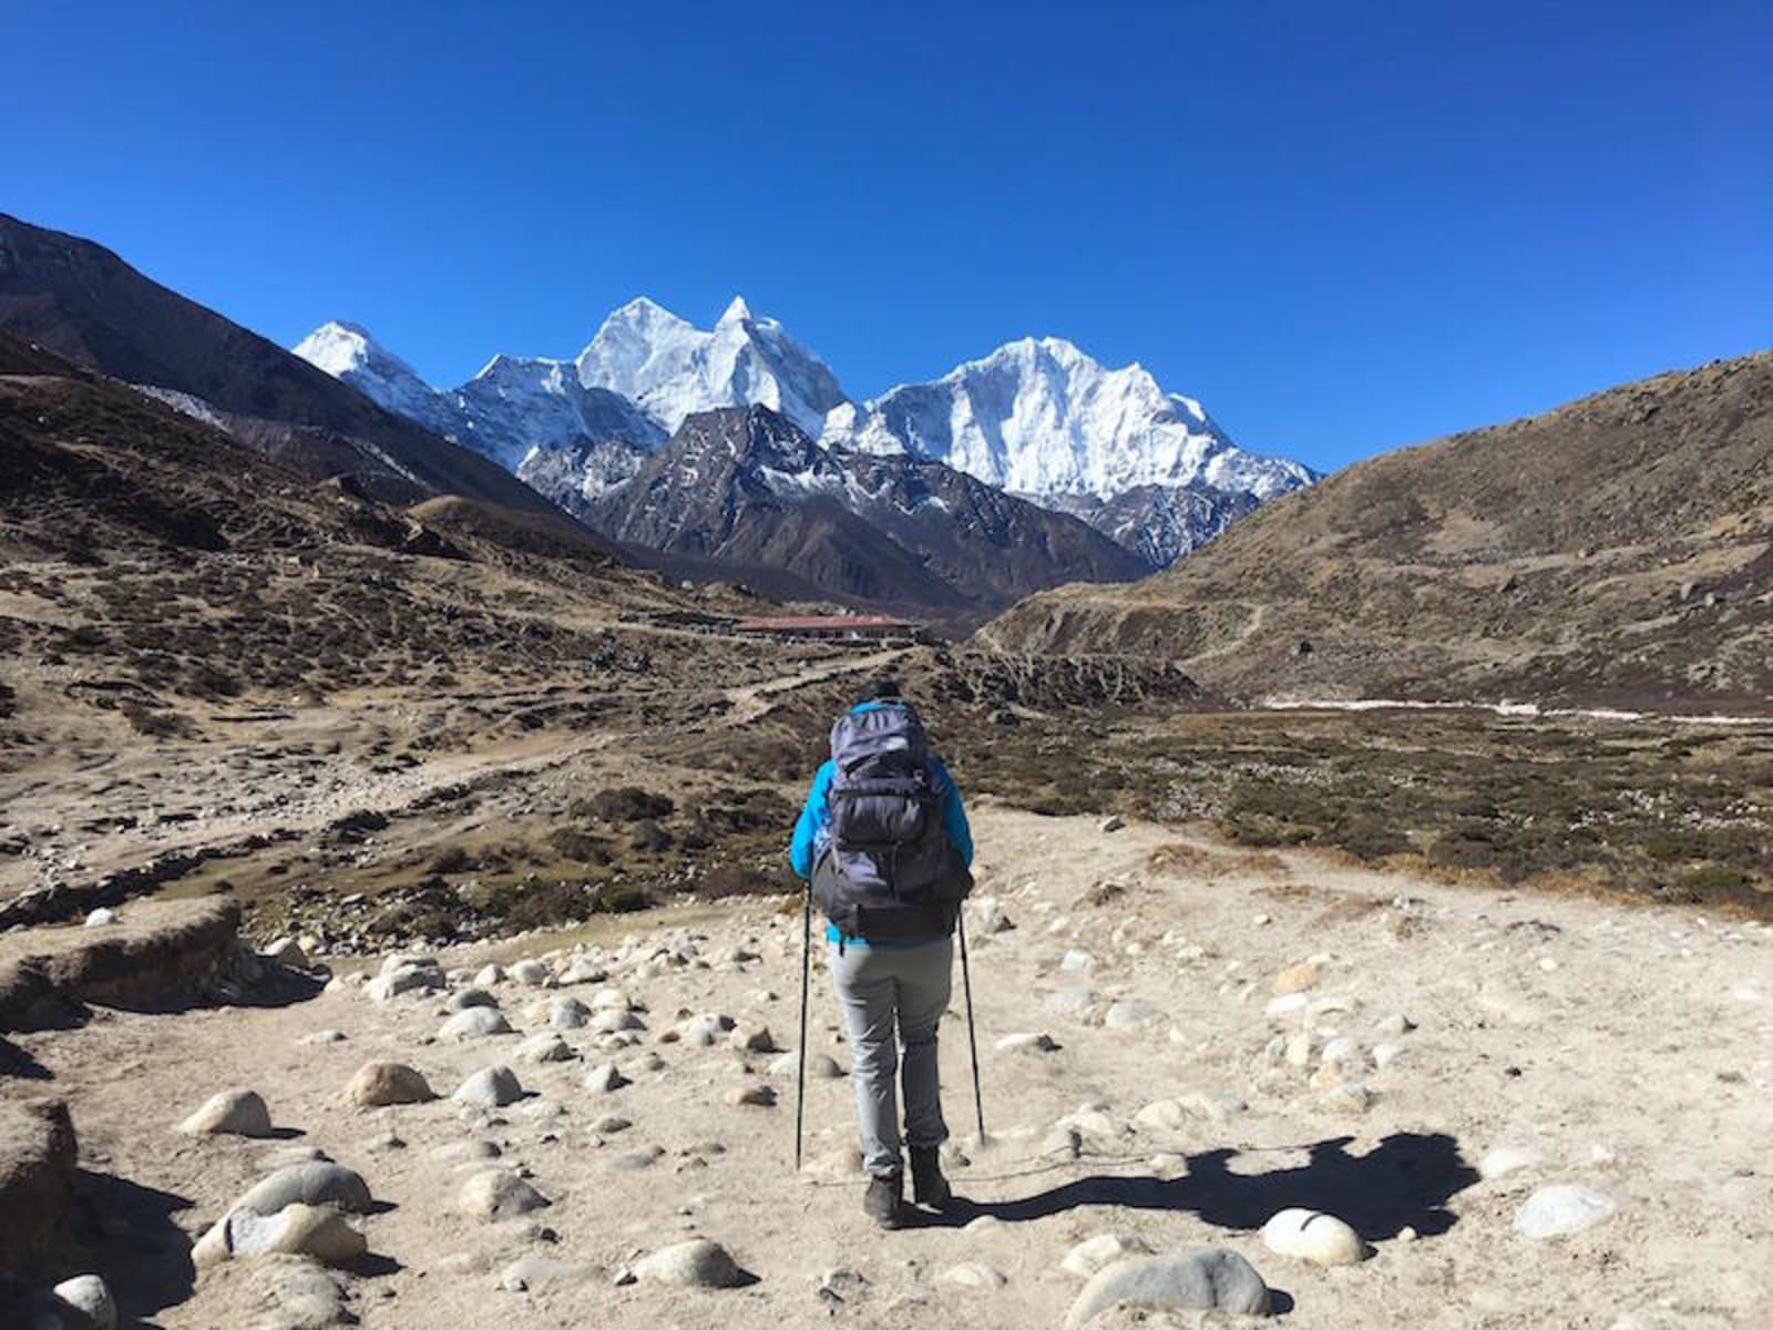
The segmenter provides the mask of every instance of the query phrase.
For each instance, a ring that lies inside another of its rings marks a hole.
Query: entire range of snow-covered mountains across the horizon
[[[858,404],[741,296],[707,330],[631,300],[576,358],[498,355],[452,392],[429,388],[355,325],[317,328],[296,353],[557,502],[599,500],[688,417],[730,406],[769,408],[839,454],[941,463],[1078,516],[1151,567],[1316,479],[1236,447],[1200,403],[1165,392],[1142,365],[1108,369],[1057,337],[1009,342]]]

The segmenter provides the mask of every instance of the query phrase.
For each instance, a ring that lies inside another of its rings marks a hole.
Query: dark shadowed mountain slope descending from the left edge
[[[392,497],[459,493],[539,507],[484,458],[381,410],[314,365],[149,280],[110,250],[0,215],[0,332],[137,385],[250,422],[245,433],[316,473]]]

